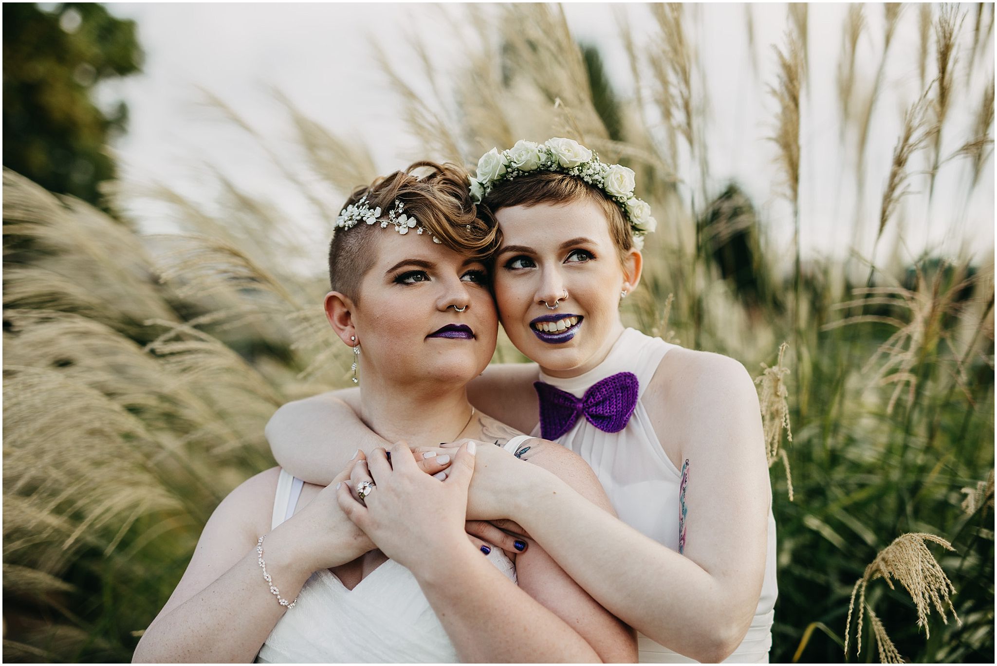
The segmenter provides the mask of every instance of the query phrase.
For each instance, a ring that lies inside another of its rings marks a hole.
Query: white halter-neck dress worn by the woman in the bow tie
[[[610,375],[631,372],[637,376],[640,384],[637,407],[626,428],[618,433],[604,433],[584,418],[579,418],[574,427],[558,438],[557,442],[588,463],[621,520],[678,552],[679,486],[682,475],[665,455],[641,400],[661,359],[676,346],[661,338],[652,338],[628,328],[620,335],[605,360],[592,370],[569,378],[550,377],[540,371],[540,381],[581,398],[588,387]],[[540,436],[539,424],[533,429],[532,435]],[[765,578],[755,618],[741,645],[725,660],[727,662],[769,661],[773,607],[778,594],[776,519],[772,514],[771,499],[768,537]],[[637,649],[642,663],[695,661],[643,634],[637,636]]]

